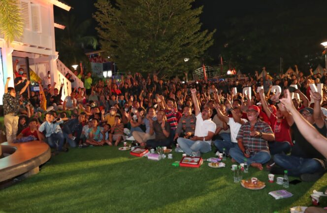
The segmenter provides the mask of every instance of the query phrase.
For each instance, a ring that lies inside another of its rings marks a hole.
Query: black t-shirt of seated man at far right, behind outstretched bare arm
[[[319,128],[316,124],[313,125],[320,134],[323,136],[326,136],[327,128],[326,125],[323,126],[323,128]],[[311,143],[307,142],[305,138],[302,136],[300,131],[297,129],[296,124],[294,123],[292,125],[292,131],[294,134],[295,144],[292,148],[291,155],[296,157],[302,157],[302,158],[317,158],[324,160],[326,159],[317,149],[315,149]]]

